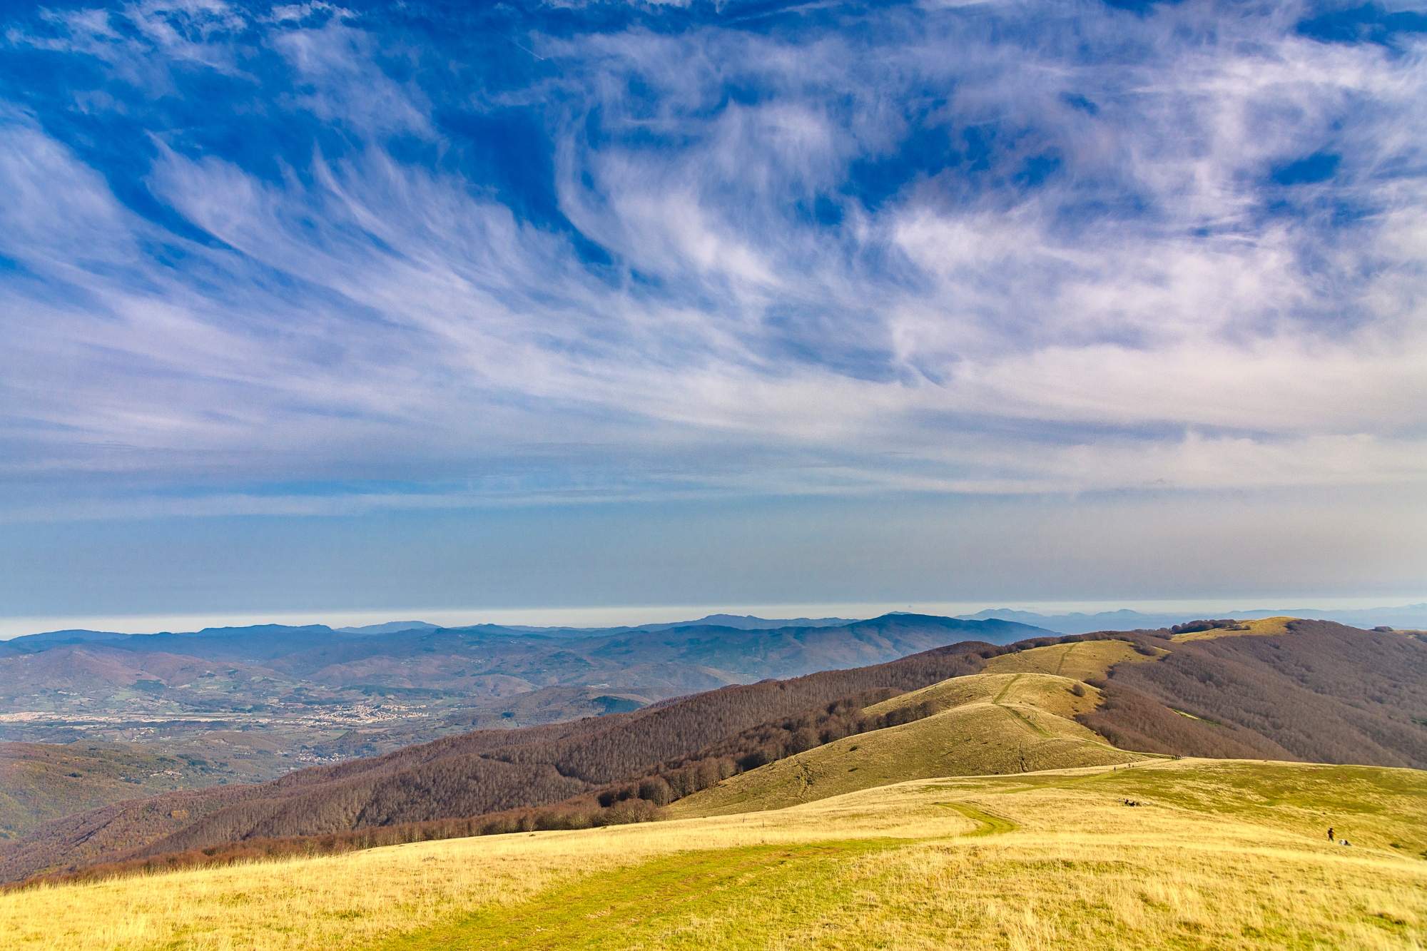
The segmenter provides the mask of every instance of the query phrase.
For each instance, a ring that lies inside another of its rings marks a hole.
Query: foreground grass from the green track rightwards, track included
[[[698,855],[671,857],[391,947],[1357,950],[1427,940],[1427,777],[1411,770],[1160,761],[908,783],[818,807],[855,802],[980,811],[1010,831],[841,855],[789,850],[762,867],[745,850],[723,877]],[[1330,821],[1357,844],[1329,844]],[[675,887],[681,871],[698,881]],[[654,894],[631,894],[639,888]]]

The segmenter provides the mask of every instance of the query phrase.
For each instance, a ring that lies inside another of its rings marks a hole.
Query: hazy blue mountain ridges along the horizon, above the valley
[[[626,685],[681,687],[689,681],[686,685],[701,688],[796,677],[839,664],[859,665],[866,658],[880,663],[940,645],[953,635],[1002,644],[1046,633],[1020,621],[906,613],[866,621],[711,615],[681,624],[611,628],[445,628],[398,621],[367,628],[254,624],[158,634],[67,630],[16,637],[0,644],[0,651],[13,657],[83,645],[90,651],[163,653],[217,664],[260,664],[280,675],[332,685],[444,690],[488,675],[519,677],[531,688],[591,680],[606,685],[605,677],[618,673]],[[681,670],[654,670],[671,664]]]

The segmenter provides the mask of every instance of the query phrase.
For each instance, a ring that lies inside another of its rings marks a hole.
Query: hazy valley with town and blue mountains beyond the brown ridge
[[[708,623],[715,620],[725,623]],[[729,684],[879,664],[955,641],[1047,634],[1019,621],[919,614],[791,625],[715,615],[585,631],[422,621],[49,631],[0,643],[0,740],[191,744],[237,731],[277,744],[278,768],[281,757],[332,763],[472,728],[604,715]],[[250,760],[244,768],[263,767]]]

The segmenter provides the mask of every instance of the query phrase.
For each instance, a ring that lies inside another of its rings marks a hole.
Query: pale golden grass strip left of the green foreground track
[[[288,951],[345,948],[481,905],[529,898],[572,877],[691,848],[853,837],[952,835],[956,812],[862,804],[769,817],[655,822],[415,842],[328,858],[255,862],[47,885],[0,895],[0,947],[19,951]]]

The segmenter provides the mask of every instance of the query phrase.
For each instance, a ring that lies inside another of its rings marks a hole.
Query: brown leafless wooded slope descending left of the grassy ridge
[[[138,848],[157,854],[559,802],[815,704],[975,673],[983,663],[979,651],[987,648],[995,650],[979,643],[942,647],[888,664],[726,687],[636,713],[448,737],[260,785],[106,807],[0,844],[0,877]]]

